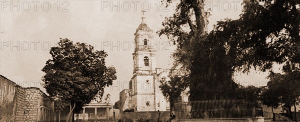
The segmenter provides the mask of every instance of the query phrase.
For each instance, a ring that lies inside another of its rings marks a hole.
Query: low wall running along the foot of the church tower
[[[160,112],[159,122],[167,122],[170,112]],[[158,112],[129,112],[123,113],[122,122],[157,122]]]

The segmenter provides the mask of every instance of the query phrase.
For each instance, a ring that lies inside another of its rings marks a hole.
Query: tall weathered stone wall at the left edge
[[[38,88],[22,88],[0,75],[0,122],[50,122],[54,106],[49,103],[50,98]],[[46,108],[47,114],[40,108]]]

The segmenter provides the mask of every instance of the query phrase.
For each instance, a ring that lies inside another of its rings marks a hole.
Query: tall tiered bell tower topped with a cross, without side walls
[[[155,50],[153,31],[145,23],[142,10],[141,23],[134,33],[133,76],[131,78],[134,111],[155,110]]]

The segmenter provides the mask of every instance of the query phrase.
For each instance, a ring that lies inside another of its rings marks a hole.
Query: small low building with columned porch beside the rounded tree
[[[110,103],[90,103],[74,115],[78,122],[116,122],[119,119],[119,110],[113,109]]]

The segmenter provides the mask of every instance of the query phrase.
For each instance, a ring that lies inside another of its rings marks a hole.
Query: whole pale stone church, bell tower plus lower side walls
[[[156,50],[153,46],[153,31],[145,23],[145,17],[134,33],[133,76],[129,89],[120,92],[120,112],[169,111],[169,103],[159,89],[159,80],[167,78],[168,69],[156,68]],[[186,96],[182,96],[187,101]]]

